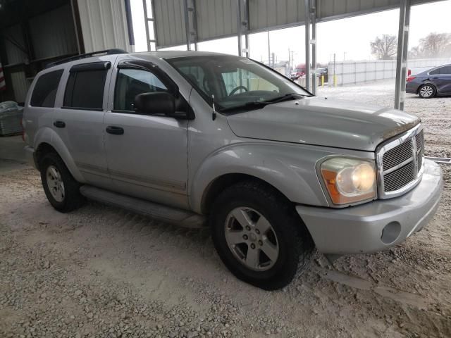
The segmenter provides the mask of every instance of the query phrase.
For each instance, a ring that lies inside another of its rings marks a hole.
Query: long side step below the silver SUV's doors
[[[140,215],[179,225],[180,227],[199,228],[204,227],[206,224],[206,218],[203,215],[144,201],[144,199],[136,199],[135,197],[125,196],[90,185],[80,187],[80,193],[87,199],[93,199],[109,206],[124,208]]]

